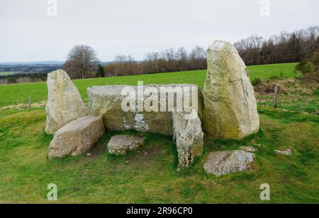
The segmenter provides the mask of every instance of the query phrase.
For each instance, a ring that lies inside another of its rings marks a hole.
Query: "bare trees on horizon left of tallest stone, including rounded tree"
[[[183,47],[169,48],[162,52],[147,53],[144,60],[136,61],[131,55],[117,55],[115,61],[107,65],[98,64],[96,53],[86,45],[77,45],[63,67],[72,79],[89,77],[111,77],[121,75],[141,75],[157,72],[184,70],[205,70],[206,51],[196,46],[190,53]]]

